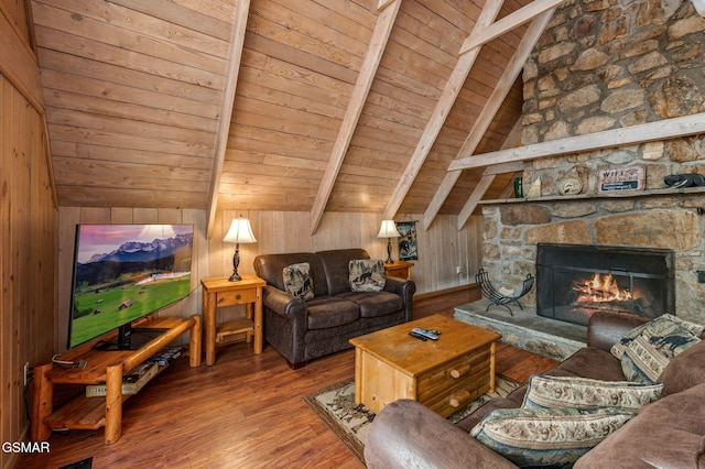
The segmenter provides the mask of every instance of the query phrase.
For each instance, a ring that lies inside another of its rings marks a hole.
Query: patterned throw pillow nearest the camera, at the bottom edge
[[[633,412],[625,408],[500,408],[470,433],[519,467],[571,467],[619,429]]]

